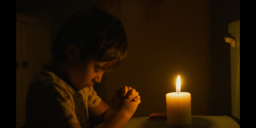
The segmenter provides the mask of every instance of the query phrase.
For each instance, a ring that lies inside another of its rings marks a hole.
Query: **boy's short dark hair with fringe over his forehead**
[[[82,61],[86,57],[112,61],[109,69],[123,62],[128,49],[120,20],[95,5],[89,5],[68,18],[53,43],[54,58],[65,60],[65,49],[70,43],[79,47]]]

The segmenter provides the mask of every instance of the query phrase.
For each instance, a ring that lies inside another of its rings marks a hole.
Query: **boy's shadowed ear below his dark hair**
[[[79,48],[75,43],[70,43],[65,49],[66,56],[69,60],[79,55]]]

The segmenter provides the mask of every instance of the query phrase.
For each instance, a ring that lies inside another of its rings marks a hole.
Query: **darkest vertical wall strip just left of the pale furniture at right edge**
[[[239,19],[240,0],[211,1],[211,115],[231,115],[230,44],[224,37]]]

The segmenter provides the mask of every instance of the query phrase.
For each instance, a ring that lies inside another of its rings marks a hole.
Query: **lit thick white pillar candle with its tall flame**
[[[166,94],[167,124],[170,126],[187,126],[191,122],[191,95],[180,92],[180,75],[177,77],[176,92]]]

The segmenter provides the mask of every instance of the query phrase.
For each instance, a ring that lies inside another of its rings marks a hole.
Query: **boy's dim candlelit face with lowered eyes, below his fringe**
[[[82,62],[80,57],[74,58],[68,65],[68,79],[78,90],[93,86],[94,83],[100,83],[105,72],[102,67],[109,62],[99,62],[91,58]]]

